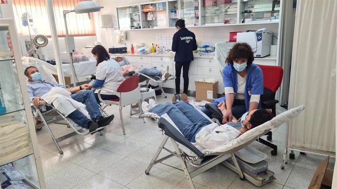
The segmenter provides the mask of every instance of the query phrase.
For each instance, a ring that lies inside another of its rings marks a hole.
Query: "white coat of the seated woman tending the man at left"
[[[105,60],[98,64],[96,79],[105,80],[101,89],[116,91],[119,85],[125,80],[122,75],[121,67],[113,58]],[[97,93],[97,91],[95,92]],[[112,95],[107,91],[102,91],[103,95]]]

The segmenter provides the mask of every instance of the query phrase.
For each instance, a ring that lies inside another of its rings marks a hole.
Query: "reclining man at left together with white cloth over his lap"
[[[114,118],[113,114],[108,117],[102,116],[93,92],[85,90],[88,88],[88,84],[64,89],[63,85],[56,82],[42,80],[39,70],[34,66],[27,67],[24,75],[28,77],[29,99],[35,106],[39,106],[41,100],[51,101],[52,105],[64,116],[70,118],[82,128],[88,129],[89,132],[110,124]],[[74,94],[83,89],[84,91]],[[60,98],[56,100],[54,98],[56,96]],[[81,111],[85,108],[82,103],[85,105],[87,112]],[[50,107],[47,108],[51,109]],[[85,113],[89,113],[90,119]]]

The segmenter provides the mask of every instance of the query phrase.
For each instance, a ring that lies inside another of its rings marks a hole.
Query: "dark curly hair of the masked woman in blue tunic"
[[[233,65],[235,59],[247,58],[247,66],[251,65],[254,61],[254,53],[252,47],[248,43],[236,43],[230,52],[228,52],[226,63]]]

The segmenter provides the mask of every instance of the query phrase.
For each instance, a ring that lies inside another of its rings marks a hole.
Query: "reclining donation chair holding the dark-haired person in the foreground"
[[[166,163],[162,164],[184,171],[186,179],[190,184],[190,188],[194,188],[194,184],[192,182],[193,177],[206,170],[211,169],[212,167],[220,163],[238,173],[241,180],[245,178],[256,186],[265,185],[275,179],[274,172],[269,169],[264,169],[262,172],[252,173],[251,171],[253,169],[241,166],[239,159],[244,161],[248,159],[255,159],[255,157],[252,156],[258,156],[258,153],[254,155],[254,153],[247,153],[247,151],[240,150],[243,148],[247,148],[247,146],[257,138],[259,138],[260,135],[263,135],[269,132],[271,129],[277,128],[284,122],[295,118],[297,114],[299,114],[303,109],[304,106],[299,106],[284,113],[281,113],[274,117],[272,120],[267,121],[266,123],[241,134],[237,138],[231,140],[229,143],[223,146],[219,146],[215,149],[206,149],[204,152],[198,150],[192,143],[190,143],[188,139],[185,138],[185,136],[179,131],[178,127],[172,122],[172,120],[170,120],[168,114],[163,114],[161,117],[149,113],[140,115],[140,118],[151,118],[152,120],[158,120],[158,127],[161,128],[165,134],[165,138],[163,139],[162,143],[154,154],[150,164],[147,167],[147,170],[145,170],[145,173],[150,174],[150,170],[155,164],[162,163],[164,160],[171,157],[177,157],[178,161],[180,162],[181,169],[173,167]],[[198,116],[202,116],[202,114]],[[146,120],[150,121],[150,119]],[[165,147],[168,139],[170,139],[173,144],[173,151]],[[169,155],[164,156],[163,153],[161,154],[163,150],[169,152]],[[191,154],[190,151],[193,152],[193,154]],[[238,154],[241,154],[241,156],[239,156]],[[161,158],[159,158],[160,155]],[[201,159],[202,161],[200,162],[199,160]],[[189,169],[188,164],[190,164],[195,169]],[[258,163],[252,164],[252,168],[259,166],[260,164]]]

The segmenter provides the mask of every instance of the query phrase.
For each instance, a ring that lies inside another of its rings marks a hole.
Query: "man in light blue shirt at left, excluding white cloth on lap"
[[[43,100],[41,96],[49,93],[53,87],[64,88],[63,85],[60,85],[56,82],[46,82],[42,80],[42,76],[39,73],[39,70],[34,66],[27,67],[24,70],[24,75],[27,76],[29,80],[29,83],[27,84],[29,100],[33,102],[33,104],[36,106],[39,106],[39,102]],[[91,117],[91,120],[88,119],[79,110],[71,112],[70,114],[67,115],[67,117],[73,120],[76,124],[78,124],[82,128],[88,129],[89,132],[92,132],[99,127],[104,127],[110,124],[110,122],[114,118],[114,115],[112,114],[108,117],[102,116],[99,110],[99,106],[95,100],[94,93],[91,90],[84,90],[80,93],[74,94],[80,90],[87,88],[88,84],[83,84],[80,87],[72,87],[66,90],[72,94],[70,95],[72,100],[76,100],[78,102],[85,104],[86,109]]]

